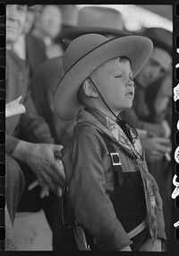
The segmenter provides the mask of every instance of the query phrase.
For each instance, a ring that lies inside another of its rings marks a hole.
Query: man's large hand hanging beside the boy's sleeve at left
[[[42,191],[52,190],[61,196],[64,187],[64,166],[55,154],[61,155],[63,146],[53,144],[32,144],[20,141],[16,146],[13,157],[27,163],[35,172]]]

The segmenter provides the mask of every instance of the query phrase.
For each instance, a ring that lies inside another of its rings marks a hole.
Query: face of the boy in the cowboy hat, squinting
[[[116,113],[132,107],[134,84],[130,62],[119,58],[99,66],[90,77],[98,87],[109,108]]]

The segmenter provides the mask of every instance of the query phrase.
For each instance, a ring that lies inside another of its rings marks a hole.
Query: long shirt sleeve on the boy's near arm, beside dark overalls
[[[72,208],[101,250],[120,251],[132,242],[106,194],[104,163],[97,140],[90,135],[81,134],[63,153]]]

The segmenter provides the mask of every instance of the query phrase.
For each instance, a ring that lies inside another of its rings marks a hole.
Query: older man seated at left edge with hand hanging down
[[[38,115],[30,98],[29,70],[12,51],[13,42],[21,35],[26,12],[27,5],[6,6],[6,102],[21,96],[26,108],[21,116],[6,119],[6,203],[12,223],[17,207],[19,211],[43,208],[55,241],[55,234],[60,232],[60,217],[55,211],[59,211],[64,186],[64,168],[56,159],[60,155],[55,155],[60,154],[62,146],[55,145],[46,121]],[[28,191],[33,181],[38,186]],[[44,199],[46,195],[49,197]]]

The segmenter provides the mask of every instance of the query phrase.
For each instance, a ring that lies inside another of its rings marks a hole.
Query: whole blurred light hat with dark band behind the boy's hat
[[[75,39],[83,34],[122,36],[130,34],[124,31],[122,13],[114,8],[103,6],[85,6],[80,9],[77,25],[63,31],[64,38]]]

